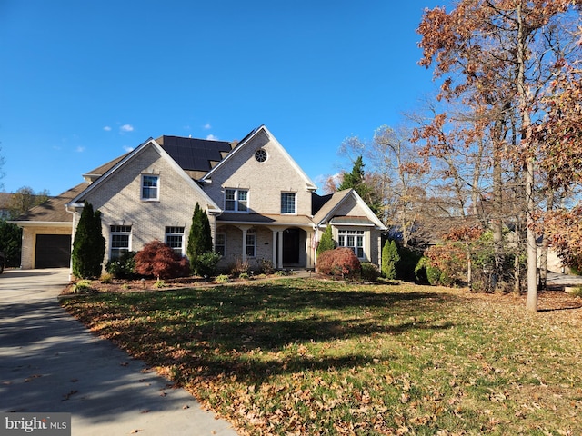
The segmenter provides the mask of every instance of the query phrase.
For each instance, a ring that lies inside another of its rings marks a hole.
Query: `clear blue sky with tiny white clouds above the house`
[[[434,92],[416,27],[445,3],[0,0],[0,183],[56,195],[149,137],[266,124],[321,186]]]

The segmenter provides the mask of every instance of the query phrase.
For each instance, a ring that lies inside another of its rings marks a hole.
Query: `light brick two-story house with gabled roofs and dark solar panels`
[[[84,174],[84,183],[19,217],[23,268],[68,266],[85,201],[102,215],[105,261],[155,239],[186,255],[196,203],[206,211],[219,268],[314,268],[331,225],[338,245],[380,265],[386,230],[354,190],[321,196],[262,125],[237,143],[176,136],[148,139]]]

